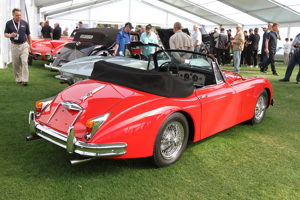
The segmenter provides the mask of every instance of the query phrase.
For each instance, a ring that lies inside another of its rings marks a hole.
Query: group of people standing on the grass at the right
[[[249,35],[247,31],[242,32],[242,26],[238,24],[236,26],[236,34],[233,37],[231,35],[231,29],[226,30],[221,28],[220,33],[218,28],[214,28],[208,34],[210,35],[210,52],[211,56],[217,57],[217,62],[219,65],[226,66],[230,65],[230,47],[232,48],[233,54],[233,65],[234,71],[236,73],[240,72],[240,67],[242,64],[246,67],[260,68],[261,73],[268,73],[268,65],[271,66],[271,72],[274,76],[279,76],[275,68],[275,53],[277,49],[277,40],[281,40],[279,32],[278,23],[269,23],[268,27],[262,26],[264,31],[262,37],[262,47],[261,56],[258,60],[258,50],[260,36],[258,34],[259,28],[249,29]],[[300,50],[300,34],[298,34],[295,39],[286,38],[284,46],[284,62],[283,64],[288,64],[286,69],[286,74],[280,81],[289,82],[289,78],[296,64],[300,64],[299,50]],[[221,36],[221,37],[220,37]],[[300,84],[300,71],[296,77],[296,83]]]

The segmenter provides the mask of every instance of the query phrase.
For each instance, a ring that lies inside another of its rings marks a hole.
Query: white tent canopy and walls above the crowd
[[[197,23],[210,31],[214,27],[244,30],[260,28],[269,22],[280,24],[282,37],[295,37],[300,27],[300,0],[0,0],[0,68],[10,62],[5,23],[12,18],[11,10],[21,7],[22,19],[29,22],[32,38],[37,37],[40,21],[50,25],[59,22],[69,32],[82,21],[86,28],[98,23],[121,28],[126,22],[135,25],[151,23],[161,28],[173,28],[180,21],[185,28]],[[4,6],[6,5],[6,6]],[[26,12],[24,12],[24,10]],[[27,13],[27,14],[26,14]],[[279,14],[280,13],[280,14]],[[53,25],[52,25],[53,26]],[[262,37],[262,31],[259,32]],[[284,40],[281,40],[281,42]]]

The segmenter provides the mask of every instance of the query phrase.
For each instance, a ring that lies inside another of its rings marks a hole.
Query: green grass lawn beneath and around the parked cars
[[[44,68],[29,66],[29,85],[16,85],[13,69],[0,69],[0,199],[300,199],[300,84],[277,73],[241,66],[241,75],[264,76],[275,105],[261,124],[238,124],[195,143],[166,168],[145,158],[97,159],[70,166],[67,154],[44,139],[27,142],[29,111],[67,87]],[[233,67],[222,67],[233,70]],[[143,150],[141,150],[143,151]]]

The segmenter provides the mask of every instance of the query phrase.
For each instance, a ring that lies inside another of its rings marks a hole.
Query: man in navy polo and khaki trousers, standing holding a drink
[[[21,19],[20,9],[13,9],[13,19],[6,22],[4,37],[10,38],[10,52],[16,84],[23,81],[23,85],[26,86],[29,79],[28,47],[32,51],[32,40],[28,23]],[[29,44],[26,39],[28,39]],[[21,67],[21,60],[23,67]]]

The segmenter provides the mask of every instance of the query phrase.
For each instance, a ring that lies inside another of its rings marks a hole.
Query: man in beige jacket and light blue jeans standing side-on
[[[231,36],[231,43],[233,46],[233,62],[234,62],[234,71],[240,73],[240,61],[241,61],[241,52],[244,49],[245,36],[242,31],[242,25],[236,25],[236,35],[233,38]]]

